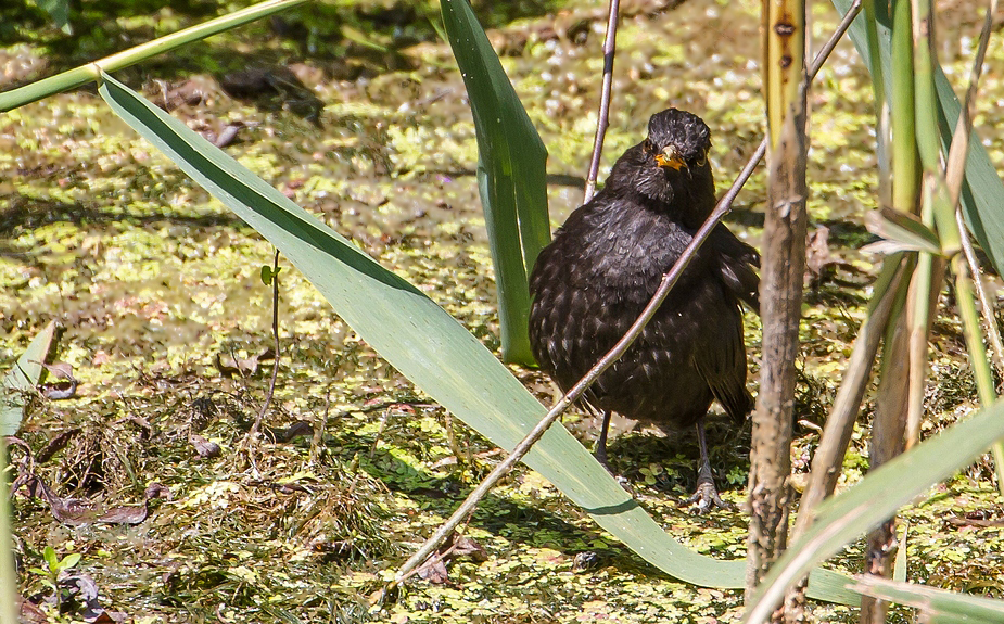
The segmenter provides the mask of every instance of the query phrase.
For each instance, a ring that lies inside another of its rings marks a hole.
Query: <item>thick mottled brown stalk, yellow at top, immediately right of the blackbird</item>
[[[763,365],[750,449],[747,598],[787,545],[808,194],[805,5],[798,0],[765,0],[762,15],[768,190],[760,283]],[[798,596],[792,600],[801,601],[804,598]]]

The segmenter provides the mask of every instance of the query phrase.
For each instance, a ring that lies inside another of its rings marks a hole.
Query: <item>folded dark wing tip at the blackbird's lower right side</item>
[[[713,339],[695,349],[694,367],[728,416],[742,422],[753,408],[753,397],[746,390],[742,323],[725,321],[716,323],[713,330]]]

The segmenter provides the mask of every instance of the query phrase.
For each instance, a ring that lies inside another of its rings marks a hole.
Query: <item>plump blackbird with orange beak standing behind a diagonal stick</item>
[[[714,209],[710,148],[700,117],[676,109],[653,115],[648,137],[541,252],[530,277],[530,340],[563,391],[624,335]],[[641,335],[585,394],[586,407],[603,413],[595,455],[608,470],[611,412],[665,431],[697,425],[701,458],[689,501],[701,512],[726,507],[708,461],[704,416],[713,399],[736,424],[752,408],[739,302],[759,311],[759,265],[753,247],[716,226]]]

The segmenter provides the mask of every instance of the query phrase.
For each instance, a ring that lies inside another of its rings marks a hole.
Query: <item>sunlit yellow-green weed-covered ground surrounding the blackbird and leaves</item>
[[[814,36],[822,39],[835,12],[828,3],[813,7]],[[53,52],[61,35],[38,17],[29,20],[23,8],[23,23],[33,28],[0,27],[0,63],[5,76],[27,80],[229,8],[125,3],[109,13],[117,18],[81,18],[74,44],[61,48],[68,53]],[[496,28],[492,41],[550,152],[557,226],[582,196],[605,8],[593,0],[485,2],[475,9]],[[951,9],[939,17],[939,37],[950,42],[939,50],[950,78],[966,75],[980,18],[975,3]],[[672,10],[628,11],[601,177],[644,135],[651,113],[674,105],[713,128],[720,184],[732,179],[762,136],[758,10],[750,0],[688,0]],[[242,125],[227,148],[231,155],[497,348],[474,130],[449,48],[429,22],[435,15],[434,3],[310,4],[119,77],[155,102],[171,102],[173,114],[208,137]],[[322,102],[317,124],[289,102],[255,107],[218,86],[224,74],[276,64],[288,65]],[[1004,169],[1004,107],[997,105],[1004,99],[1004,47],[991,44],[988,65],[976,127]],[[821,73],[810,103],[809,212],[813,226],[828,229],[829,256],[821,258],[829,262],[809,284],[804,305],[802,424],[793,445],[799,474],[808,471],[875,275],[876,258],[856,251],[869,240],[863,213],[876,201],[870,79],[849,43]],[[754,244],[763,188],[755,176],[730,217],[733,229]],[[450,561],[445,582],[416,576],[380,602],[396,566],[499,454],[456,420],[450,424],[288,265],[280,273],[282,353],[266,440],[297,422],[309,424],[313,434],[303,430],[291,441],[243,453],[272,362],[262,358],[232,375],[220,366],[272,344],[271,295],[259,277],[271,257],[270,245],[93,93],[65,93],[0,117],[0,361],[5,369],[40,328],[58,319],[66,327],[58,359],[72,364],[80,381],[75,398],[39,399],[29,409],[18,436],[33,454],[78,430],[34,471],[59,496],[105,506],[139,504],[152,483],[170,491],[169,498],[151,500],[150,518],[135,526],[64,525],[42,499],[17,496],[23,596],[50,591],[48,576],[28,570],[45,568],[50,547],[59,560],[79,553],[73,570],[93,578],[101,606],[136,622],[739,617],[740,593],[686,586],[659,574],[523,469],[466,529],[486,560]],[[975,405],[954,303],[944,297],[940,311],[925,433]],[[759,329],[754,316],[747,320],[755,371]],[[539,374],[513,372],[550,400],[552,391]],[[867,470],[868,410],[842,486]],[[571,416],[567,424],[589,443],[588,419]],[[727,487],[726,498],[741,502],[749,432],[712,425],[710,434],[719,484]],[[219,445],[219,455],[200,457],[196,435]],[[741,511],[695,518],[678,506],[695,477],[692,440],[635,433],[612,441],[610,450],[639,500],[674,536],[716,557],[745,555]],[[24,449],[12,453],[12,463],[28,470]],[[984,459],[906,510],[908,578],[1004,596],[1004,498],[991,479]],[[851,547],[837,564],[856,570],[859,556],[860,547]],[[55,607],[45,608],[54,614]],[[815,609],[822,621],[853,619],[843,608]],[[897,612],[894,621],[907,616]]]

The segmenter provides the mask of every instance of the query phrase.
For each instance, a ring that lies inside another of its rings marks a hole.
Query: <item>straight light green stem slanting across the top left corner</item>
[[[161,37],[135,48],[117,52],[111,56],[94,61],[93,63],[67,69],[66,72],[38,80],[37,82],[31,82],[20,89],[12,89],[4,93],[0,93],[0,113],[16,109],[17,106],[30,104],[31,102],[37,102],[54,93],[76,89],[88,82],[93,82],[98,79],[100,71],[115,72],[123,67],[128,67],[140,61],[145,61],[151,56],[169,52],[175,48],[180,48],[192,41],[199,41],[200,39],[205,39],[206,37],[223,33],[224,30],[230,30],[231,28],[237,28],[249,22],[254,22],[255,20],[267,17],[274,13],[285,11],[297,4],[303,4],[307,0],[268,0],[268,2],[262,2],[228,15],[209,20],[198,26],[192,26],[191,28],[186,28],[185,30],[167,35],[166,37]]]

